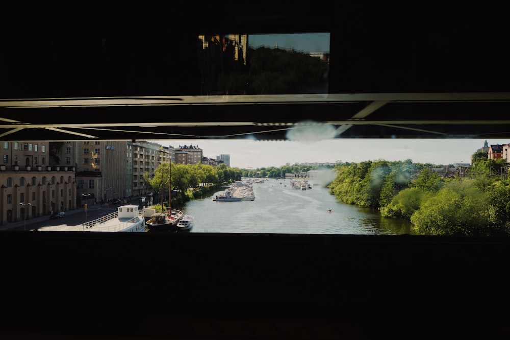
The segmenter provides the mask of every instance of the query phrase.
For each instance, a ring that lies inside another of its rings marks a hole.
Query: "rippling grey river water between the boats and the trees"
[[[384,218],[377,209],[338,202],[324,185],[313,179],[309,183],[312,189],[298,190],[289,179],[268,179],[253,184],[253,201],[213,201],[221,190],[187,202],[182,210],[195,216],[190,232],[197,233],[413,234],[405,219]]]

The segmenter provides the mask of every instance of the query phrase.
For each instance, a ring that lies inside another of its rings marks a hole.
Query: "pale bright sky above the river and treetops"
[[[203,156],[216,158],[230,155],[230,166],[243,169],[290,163],[360,163],[384,159],[411,159],[414,163],[447,165],[470,163],[471,155],[491,144],[508,144],[510,139],[334,139],[322,141],[254,141],[229,140],[155,140],[166,147],[193,145]]]

